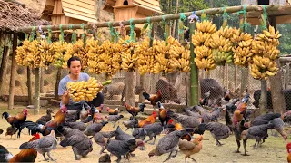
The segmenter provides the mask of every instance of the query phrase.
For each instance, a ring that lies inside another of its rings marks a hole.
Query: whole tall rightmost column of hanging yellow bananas
[[[276,75],[278,68],[276,59],[280,51],[277,49],[281,34],[275,32],[275,28],[269,25],[268,31],[256,35],[252,43],[252,52],[255,54],[251,66],[251,74],[255,79],[267,80],[268,77]]]

